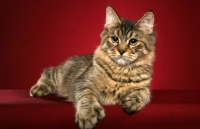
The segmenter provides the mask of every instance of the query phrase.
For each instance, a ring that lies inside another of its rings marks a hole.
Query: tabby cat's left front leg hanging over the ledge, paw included
[[[76,89],[77,90],[77,89]],[[79,87],[75,94],[76,124],[80,129],[92,129],[105,117],[97,93],[91,86]]]

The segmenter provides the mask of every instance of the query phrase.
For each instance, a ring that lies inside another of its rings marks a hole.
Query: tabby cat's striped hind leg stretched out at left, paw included
[[[30,89],[30,96],[42,97],[57,92],[59,67],[45,69],[37,83]]]

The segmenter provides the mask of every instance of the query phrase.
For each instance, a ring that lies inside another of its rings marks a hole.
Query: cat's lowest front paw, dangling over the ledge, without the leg
[[[100,104],[93,105],[89,108],[82,108],[76,112],[76,125],[80,129],[92,129],[98,120],[105,117],[105,112]]]

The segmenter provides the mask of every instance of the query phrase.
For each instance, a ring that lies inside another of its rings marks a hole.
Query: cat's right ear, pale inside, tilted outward
[[[154,27],[154,14],[153,12],[147,12],[144,16],[137,21],[136,26],[142,30],[145,34],[153,33]]]

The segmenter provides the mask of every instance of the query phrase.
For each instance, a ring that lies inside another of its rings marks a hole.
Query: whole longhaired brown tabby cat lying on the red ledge
[[[30,95],[66,97],[75,104],[79,128],[91,129],[105,117],[101,104],[121,104],[132,114],[150,101],[154,55],[153,13],[131,21],[108,6],[101,43],[94,54],[74,56],[46,69]]]

